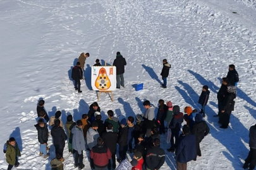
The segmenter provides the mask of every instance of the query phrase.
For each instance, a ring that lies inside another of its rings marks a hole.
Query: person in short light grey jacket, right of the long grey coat
[[[98,123],[92,122],[92,127],[90,127],[87,131],[86,139],[87,139],[87,145],[90,150],[92,150],[95,145],[97,145],[97,139],[99,137],[99,133],[97,131],[98,129]],[[94,166],[94,159],[90,158],[90,168],[95,169]]]

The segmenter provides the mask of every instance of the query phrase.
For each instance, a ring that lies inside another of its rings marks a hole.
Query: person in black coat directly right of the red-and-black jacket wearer
[[[112,167],[116,169],[116,143],[118,142],[118,133],[113,132],[113,125],[111,123],[107,125],[106,130],[107,132],[102,133],[102,139],[112,154]],[[109,160],[107,169],[111,169],[111,160]]]

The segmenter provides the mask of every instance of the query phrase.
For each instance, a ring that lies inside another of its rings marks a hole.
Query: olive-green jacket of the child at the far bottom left
[[[9,144],[9,140],[6,141],[7,149],[6,149],[6,162],[12,166],[15,165],[16,156],[21,156],[20,149],[18,147],[18,144],[16,142],[16,145],[13,146]]]

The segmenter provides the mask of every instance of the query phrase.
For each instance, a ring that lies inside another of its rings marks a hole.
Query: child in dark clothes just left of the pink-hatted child
[[[166,118],[166,112],[168,110],[168,106],[164,104],[163,99],[159,99],[159,108],[157,111],[157,122],[159,122],[159,134],[166,133],[166,130],[164,129],[164,119]]]

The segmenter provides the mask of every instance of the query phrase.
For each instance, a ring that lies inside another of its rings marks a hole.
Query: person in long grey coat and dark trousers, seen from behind
[[[73,134],[72,147],[75,152],[75,167],[79,166],[78,169],[83,169],[83,167],[85,167],[85,165],[83,164],[83,150],[85,150],[85,139],[83,137],[82,127],[82,121],[78,120],[76,121],[76,126],[73,127],[71,130]]]

